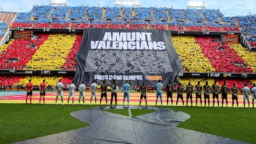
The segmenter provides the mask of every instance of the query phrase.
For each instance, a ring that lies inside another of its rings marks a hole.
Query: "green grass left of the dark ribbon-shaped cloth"
[[[70,112],[93,106],[0,104],[0,143],[13,143],[86,127]]]

